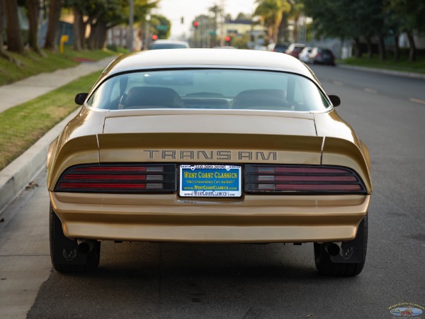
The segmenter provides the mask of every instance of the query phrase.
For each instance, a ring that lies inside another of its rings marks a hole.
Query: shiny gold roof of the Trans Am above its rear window
[[[170,69],[186,67],[267,69],[293,72],[317,80],[311,70],[290,55],[259,50],[186,49],[154,50],[121,55],[109,65],[102,78],[141,69]]]

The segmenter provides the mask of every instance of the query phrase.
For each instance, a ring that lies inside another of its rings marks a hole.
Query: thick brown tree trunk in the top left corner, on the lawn
[[[0,0],[1,1],[1,0]],[[7,48],[11,52],[23,54],[21,27],[18,20],[18,3],[16,0],[4,0],[6,13]]]

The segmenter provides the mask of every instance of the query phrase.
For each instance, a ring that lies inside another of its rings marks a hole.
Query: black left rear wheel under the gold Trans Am
[[[50,258],[57,272],[92,272],[97,269],[101,257],[101,243],[96,241],[88,254],[81,254],[77,240],[64,235],[62,223],[50,205]]]

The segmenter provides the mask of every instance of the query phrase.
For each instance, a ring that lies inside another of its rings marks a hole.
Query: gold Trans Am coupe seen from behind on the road
[[[103,240],[314,242],[320,273],[362,271],[368,149],[294,57],[123,55],[75,101],[47,157],[57,271],[96,269]]]

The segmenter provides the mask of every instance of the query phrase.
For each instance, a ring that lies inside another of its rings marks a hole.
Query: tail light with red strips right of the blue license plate
[[[246,165],[246,193],[365,194],[358,174],[347,167]]]

